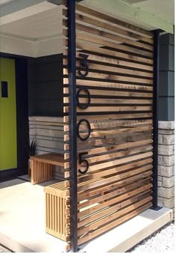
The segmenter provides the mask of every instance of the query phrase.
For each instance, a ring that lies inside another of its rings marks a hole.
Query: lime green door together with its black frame
[[[0,58],[0,181],[28,171],[27,60]]]

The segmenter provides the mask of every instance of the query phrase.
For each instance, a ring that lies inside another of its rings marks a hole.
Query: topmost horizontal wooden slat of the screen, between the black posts
[[[138,28],[134,25],[131,25],[127,22],[124,22],[122,20],[119,20],[119,19],[116,19],[114,18],[113,16],[108,16],[107,14],[104,14],[104,13],[101,13],[101,12],[98,12],[97,10],[92,10],[90,9],[89,7],[85,7],[81,4],[76,4],[76,10],[78,11],[81,11],[83,13],[87,13],[93,17],[96,17],[98,19],[103,19],[107,22],[112,22],[113,24],[116,24],[117,26],[121,26],[122,28],[125,28],[127,30],[132,30],[133,33],[136,33],[136,34],[143,34],[143,36],[145,37],[153,37],[153,33],[152,32],[149,32],[149,31],[146,31],[142,28]]]

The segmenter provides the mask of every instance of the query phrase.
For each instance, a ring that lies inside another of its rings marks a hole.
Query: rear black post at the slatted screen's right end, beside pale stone
[[[158,168],[158,101],[159,101],[159,54],[160,30],[154,31],[154,103],[153,103],[153,199],[152,209],[160,210],[157,205],[157,168]]]

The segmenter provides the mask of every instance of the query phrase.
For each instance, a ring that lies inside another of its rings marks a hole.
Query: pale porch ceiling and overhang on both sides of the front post
[[[61,0],[0,0],[0,51],[32,57],[63,52],[62,6],[53,2]],[[173,30],[174,0],[84,0],[80,4],[146,30]]]

